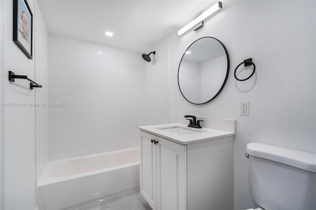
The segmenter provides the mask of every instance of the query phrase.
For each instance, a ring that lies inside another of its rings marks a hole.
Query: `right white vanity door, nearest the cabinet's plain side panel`
[[[187,146],[156,137],[157,210],[187,209]]]

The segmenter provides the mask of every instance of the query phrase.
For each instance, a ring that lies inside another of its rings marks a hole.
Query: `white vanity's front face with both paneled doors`
[[[140,193],[153,210],[187,209],[186,147],[141,131]]]

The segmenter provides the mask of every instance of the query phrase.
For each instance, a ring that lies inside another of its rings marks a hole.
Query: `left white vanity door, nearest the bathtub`
[[[140,142],[140,193],[153,210],[156,210],[156,136],[141,131]]]

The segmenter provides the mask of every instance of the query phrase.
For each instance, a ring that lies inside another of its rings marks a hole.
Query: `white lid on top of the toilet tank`
[[[248,143],[249,155],[316,173],[316,154],[263,143]]]

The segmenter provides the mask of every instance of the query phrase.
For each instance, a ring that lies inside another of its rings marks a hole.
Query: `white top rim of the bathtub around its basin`
[[[114,154],[114,153],[119,153],[119,152],[130,151],[130,150],[139,150],[139,147],[132,147],[132,148],[128,148],[128,149],[120,149],[120,150],[115,150],[115,151],[110,151],[110,152],[103,152],[103,153],[97,153],[97,154],[91,154],[91,155],[83,155],[83,156],[78,156],[78,157],[71,157],[71,158],[48,161],[47,165],[44,169],[44,172],[41,175],[40,180],[37,184],[37,187],[49,185],[49,184],[54,184],[54,183],[58,183],[58,182],[63,182],[63,181],[71,180],[71,179],[76,179],[76,178],[79,178],[82,176],[95,175],[95,174],[109,172],[109,171],[124,168],[124,167],[139,165],[140,161],[136,161],[136,162],[126,163],[126,164],[122,164],[122,165],[118,165],[118,166],[112,166],[109,168],[84,172],[84,173],[80,173],[80,174],[76,174],[76,175],[68,175],[68,176],[62,176],[62,177],[52,177],[52,176],[48,175],[50,167],[52,167],[58,163],[72,161],[72,160],[78,160],[78,159],[84,159],[84,158],[89,158],[89,157],[102,156],[105,154],[107,154],[107,155]]]

